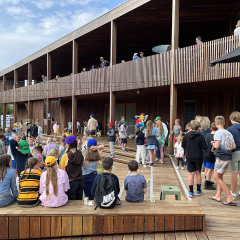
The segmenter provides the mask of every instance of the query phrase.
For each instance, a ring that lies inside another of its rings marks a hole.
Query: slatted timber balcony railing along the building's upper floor
[[[175,50],[175,84],[193,83],[240,77],[240,64],[210,62],[240,46],[239,36],[230,36],[201,45]],[[4,103],[24,102],[74,95],[88,95],[139,88],[160,87],[170,84],[171,52],[156,54],[136,61],[78,73],[48,83],[0,92]],[[110,84],[111,83],[111,84]],[[14,96],[15,95],[15,96]]]

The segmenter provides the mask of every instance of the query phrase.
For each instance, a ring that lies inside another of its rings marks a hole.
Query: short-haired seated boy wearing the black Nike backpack
[[[118,177],[114,174],[112,174],[112,168],[113,168],[113,160],[112,158],[110,157],[106,157],[102,160],[102,166],[103,166],[103,169],[104,169],[104,172],[102,174],[99,174],[96,176],[94,182],[93,182],[93,185],[92,185],[92,189],[91,189],[91,195],[95,197],[95,200],[96,198],[98,198],[98,196],[96,196],[96,192],[99,192],[100,189],[97,189],[98,187],[100,187],[102,189],[102,187],[106,187],[106,185],[104,186],[99,186],[100,184],[100,179],[102,179],[102,177],[105,177],[105,179],[107,179],[108,177],[112,177],[112,183],[115,183],[114,186],[112,186],[113,189],[116,189],[116,192],[114,193],[114,196],[118,195],[119,192],[120,192],[120,187],[119,187],[119,180],[118,180]],[[110,187],[109,187],[110,189]],[[96,191],[97,190],[97,191]],[[115,203],[117,202],[118,200],[118,197],[117,199],[112,199]],[[101,203],[104,204],[104,199],[101,199],[100,200]],[[113,203],[114,204],[114,203]],[[113,207],[113,206],[112,206]]]

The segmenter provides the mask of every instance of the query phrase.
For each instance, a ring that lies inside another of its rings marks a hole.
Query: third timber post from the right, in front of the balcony
[[[77,134],[77,96],[75,96],[75,74],[78,73],[78,43],[73,40],[72,49],[72,133]]]

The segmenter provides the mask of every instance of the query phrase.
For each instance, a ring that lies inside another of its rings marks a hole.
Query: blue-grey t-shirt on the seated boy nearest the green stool
[[[143,202],[146,187],[147,182],[143,175],[127,176],[124,180],[124,188],[127,191],[125,199],[129,202]]]

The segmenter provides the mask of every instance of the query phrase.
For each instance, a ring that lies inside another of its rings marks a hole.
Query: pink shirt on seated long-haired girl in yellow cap
[[[58,176],[58,196],[55,196],[53,193],[52,183],[49,183],[49,198],[46,196],[46,177],[47,172],[42,173],[40,179],[40,190],[41,194],[40,200],[42,202],[42,206],[44,207],[61,207],[65,205],[68,201],[68,196],[65,192],[70,188],[69,179],[67,173],[57,168],[57,176]]]

